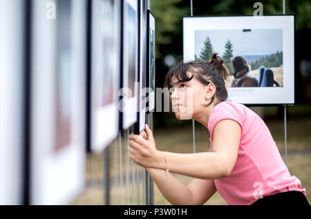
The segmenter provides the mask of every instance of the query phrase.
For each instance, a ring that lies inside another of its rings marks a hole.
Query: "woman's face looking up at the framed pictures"
[[[188,73],[191,76],[191,73]],[[173,76],[171,78],[172,90],[171,90],[171,102],[173,111],[175,112],[178,120],[190,120],[195,119],[196,115],[205,110],[205,106],[210,102],[212,94],[209,87],[214,84],[205,86],[200,83],[196,77],[193,77],[189,82],[178,82],[178,79]]]

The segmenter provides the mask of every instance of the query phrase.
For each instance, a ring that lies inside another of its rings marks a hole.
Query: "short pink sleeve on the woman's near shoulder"
[[[231,102],[220,102],[213,108],[211,115],[209,116],[207,127],[211,138],[213,138],[214,127],[221,120],[233,120],[237,122],[241,126],[243,132],[244,118],[244,111],[238,105]]]

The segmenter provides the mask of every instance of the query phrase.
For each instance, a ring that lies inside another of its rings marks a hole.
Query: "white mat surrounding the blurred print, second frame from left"
[[[64,1],[64,0],[61,0]],[[70,144],[55,146],[57,18],[46,19],[47,3],[32,5],[32,142],[30,204],[70,204],[85,188],[85,1],[71,1],[72,104]]]

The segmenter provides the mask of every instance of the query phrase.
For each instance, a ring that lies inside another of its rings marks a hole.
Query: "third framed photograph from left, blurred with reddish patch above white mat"
[[[91,1],[91,150],[117,137],[120,87],[120,0]]]

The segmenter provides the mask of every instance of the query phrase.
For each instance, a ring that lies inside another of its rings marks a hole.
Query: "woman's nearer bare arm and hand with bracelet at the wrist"
[[[145,140],[140,135],[130,135],[130,158],[141,166],[169,169],[174,173],[194,178],[216,179],[231,173],[238,156],[241,126],[233,120],[221,120],[214,128],[211,152],[167,153],[156,150],[152,131],[147,127]]]

